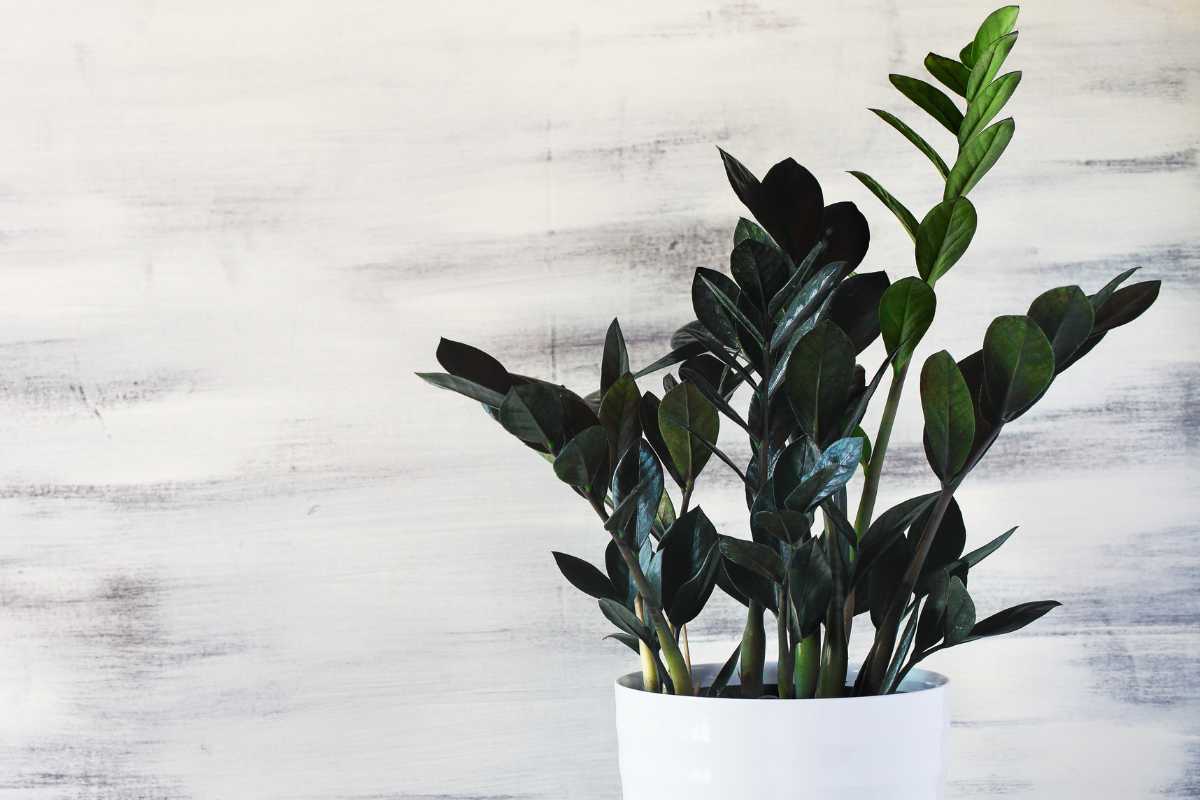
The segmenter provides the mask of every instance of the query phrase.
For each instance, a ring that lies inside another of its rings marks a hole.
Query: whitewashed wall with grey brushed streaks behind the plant
[[[887,73],[990,7],[4,2],[0,798],[616,800],[635,664],[548,555],[602,535],[412,373],[446,335],[588,391],[613,315],[659,354],[742,212],[715,145],[796,156],[908,273],[844,170],[934,201],[865,108],[920,120]],[[1020,29],[929,344],[1127,265],[1164,293],[961,492],[971,541],[1021,525],[980,610],[1066,606],[932,662],[949,796],[1200,796],[1200,5]],[[908,401],[883,501],[931,486]],[[727,533],[737,494],[714,464]],[[714,601],[695,649],[739,622]]]

